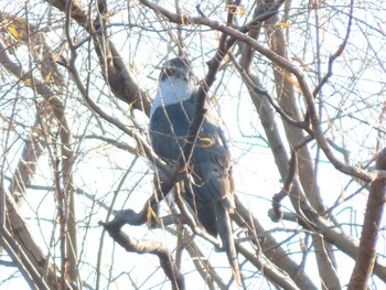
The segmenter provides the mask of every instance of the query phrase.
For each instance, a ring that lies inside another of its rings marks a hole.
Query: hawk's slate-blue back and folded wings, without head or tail
[[[152,147],[161,158],[176,161],[182,152],[190,121],[194,114],[195,95],[189,100],[158,107],[150,120]],[[224,132],[211,110],[194,143],[189,170],[194,198],[200,201],[224,201],[232,204],[234,182],[232,161]]]

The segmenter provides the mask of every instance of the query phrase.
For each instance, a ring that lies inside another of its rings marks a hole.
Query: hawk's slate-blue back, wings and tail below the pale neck
[[[194,97],[182,104],[159,107],[150,120],[153,149],[161,158],[176,161],[185,143],[194,114]],[[239,283],[240,273],[229,211],[234,205],[234,181],[229,150],[217,120],[205,115],[184,180],[184,197],[206,232],[219,237]]]

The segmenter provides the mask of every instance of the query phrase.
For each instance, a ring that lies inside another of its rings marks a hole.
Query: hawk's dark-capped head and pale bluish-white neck
[[[150,116],[159,106],[187,100],[194,90],[191,63],[183,57],[175,57],[165,62],[159,77],[159,88],[151,106]]]

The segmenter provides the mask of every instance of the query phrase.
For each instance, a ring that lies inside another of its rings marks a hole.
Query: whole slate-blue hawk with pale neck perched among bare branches
[[[168,61],[159,77],[158,94],[150,110],[150,139],[156,153],[170,164],[182,154],[197,92],[187,60]],[[229,212],[234,210],[234,181],[229,150],[218,119],[207,111],[187,163],[183,196],[202,226],[214,237],[219,235],[240,283]]]

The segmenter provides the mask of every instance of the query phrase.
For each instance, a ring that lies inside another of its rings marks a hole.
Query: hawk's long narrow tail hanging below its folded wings
[[[217,217],[218,235],[223,241],[223,247],[226,251],[226,256],[228,257],[233,271],[233,277],[236,280],[236,282],[240,286],[242,276],[237,260],[235,240],[233,238],[233,230],[228,208],[226,208],[226,206],[224,206],[222,202],[215,202],[215,212]]]

